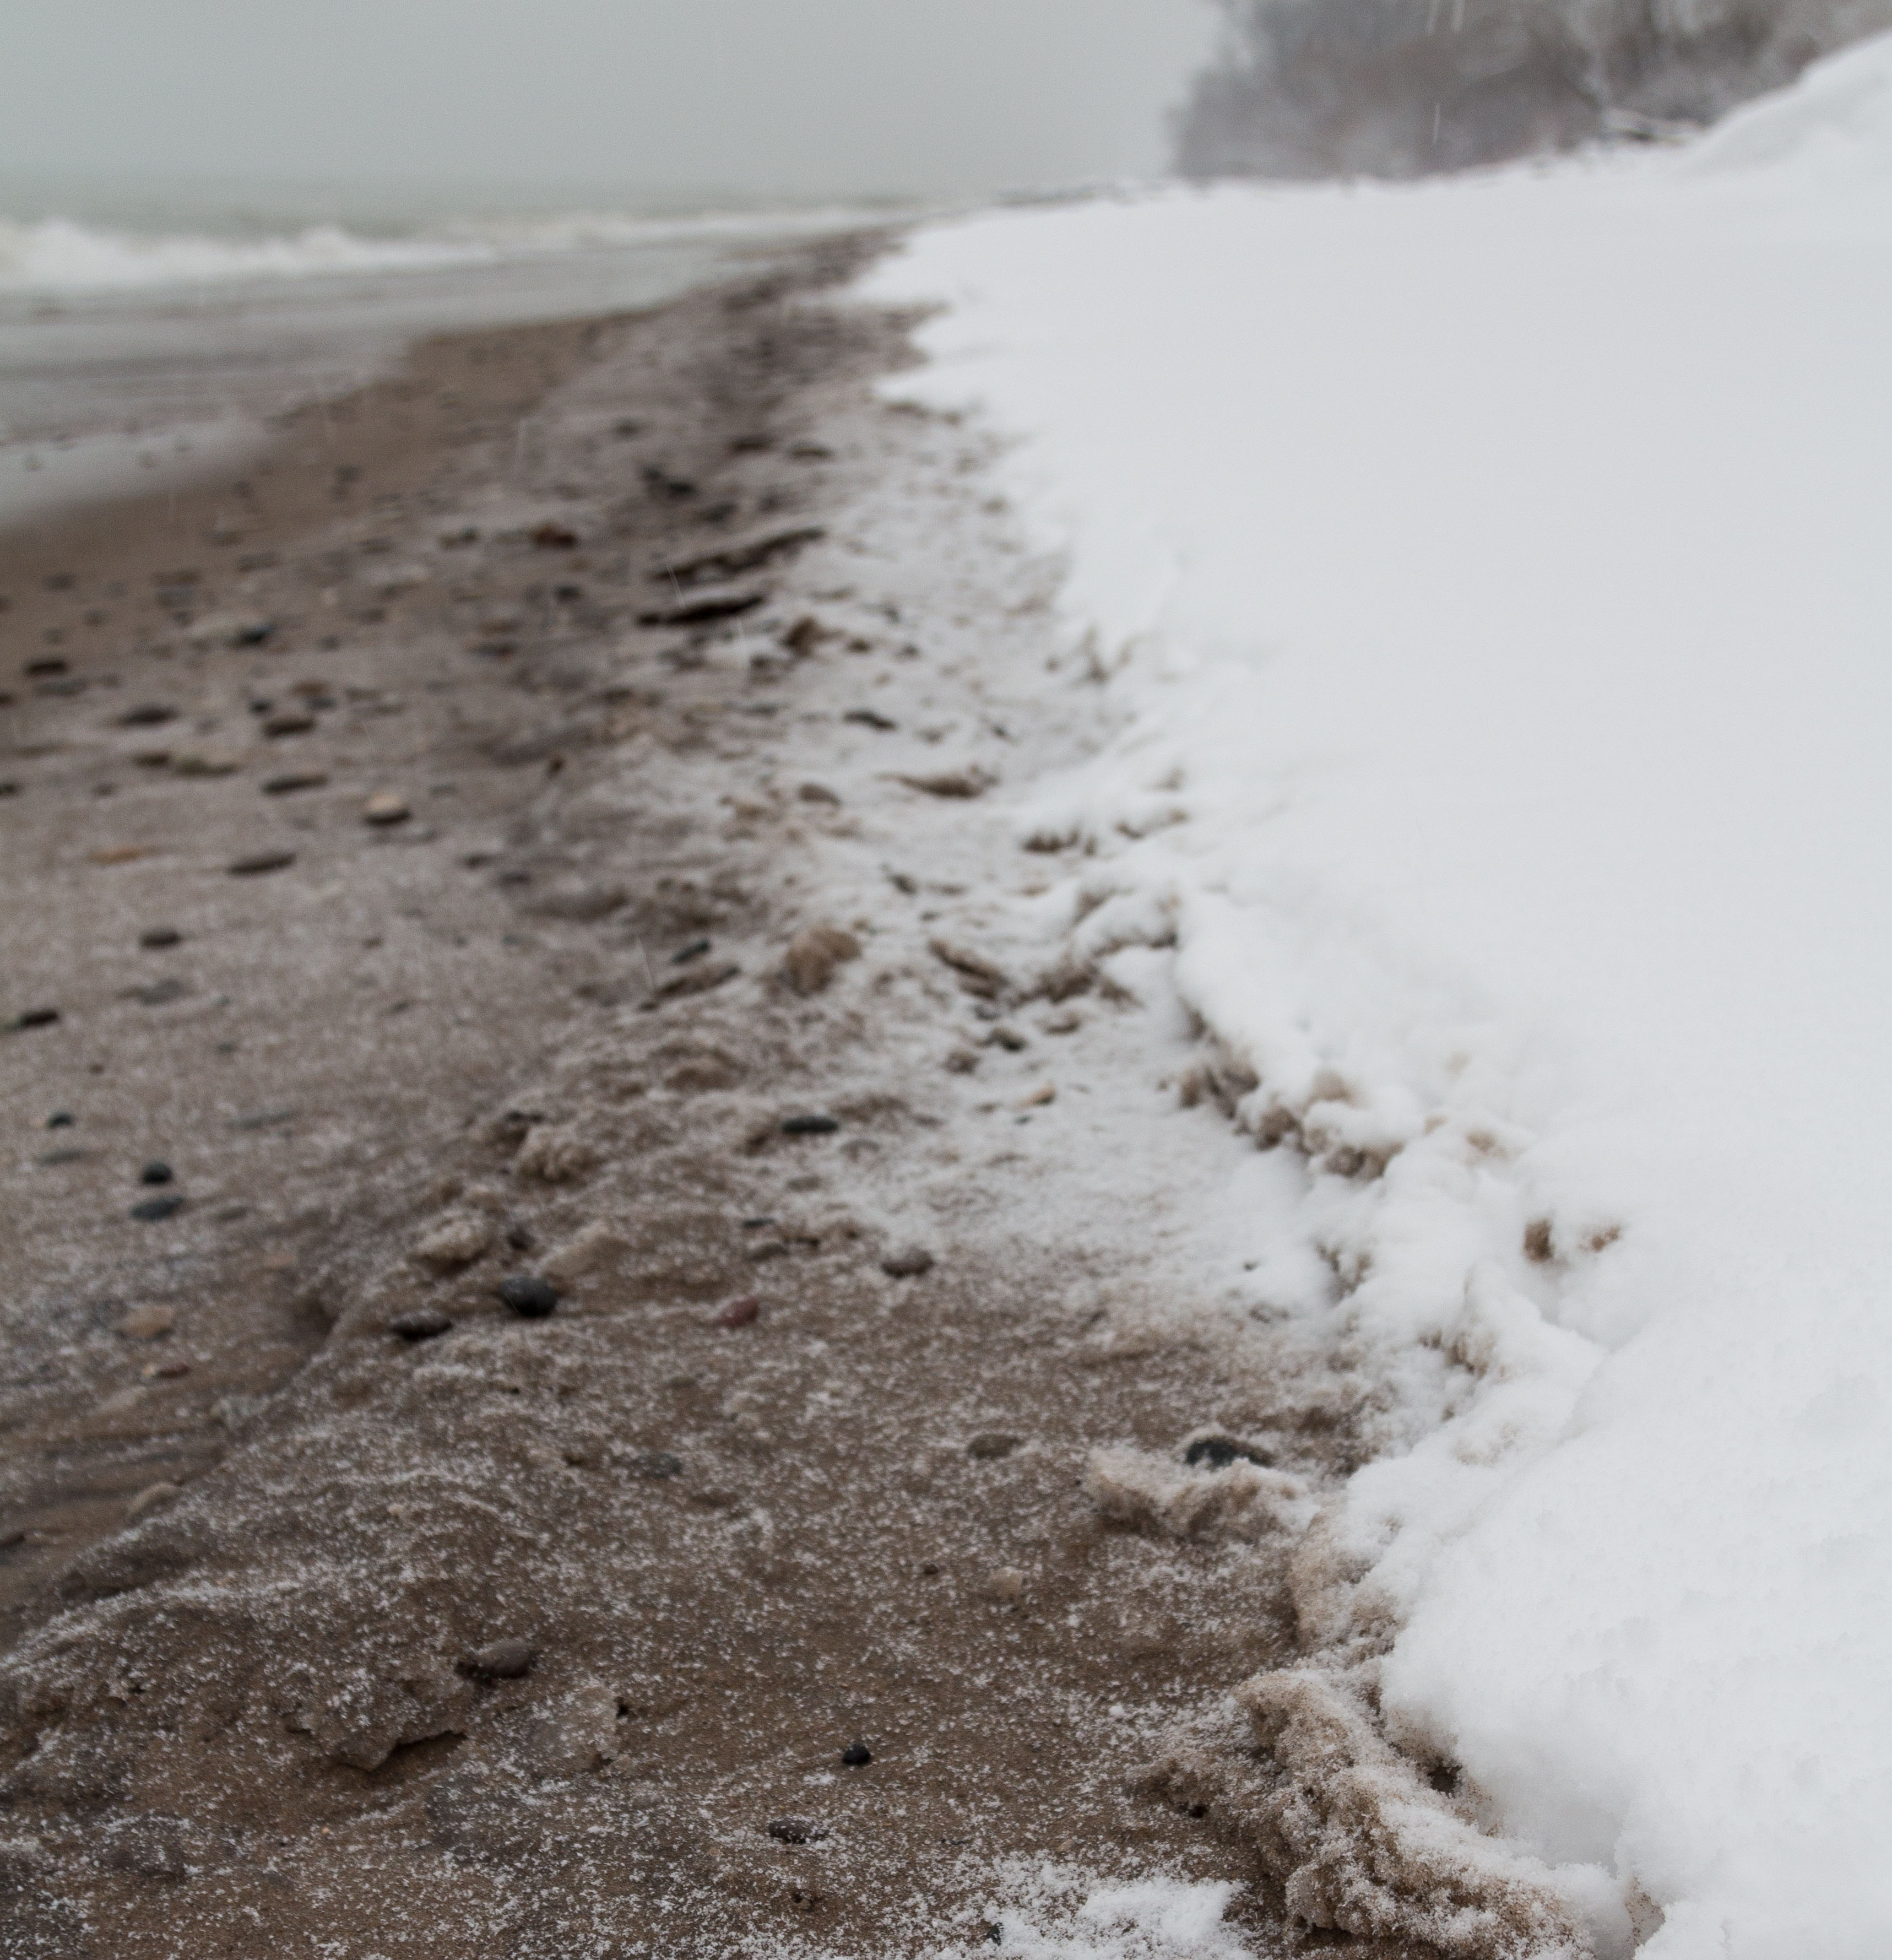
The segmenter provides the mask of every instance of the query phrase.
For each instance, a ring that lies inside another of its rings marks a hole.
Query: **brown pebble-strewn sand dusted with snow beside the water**
[[[1286,1950],[1139,1784],[1292,1656],[1286,1550],[1086,1460],[1345,1421],[1106,1188],[1135,1004],[937,951],[1016,847],[874,760],[935,621],[849,514],[951,470],[865,249],[0,539],[10,1954],[971,1952],[1008,1860]],[[955,629],[1023,651],[992,525]]]

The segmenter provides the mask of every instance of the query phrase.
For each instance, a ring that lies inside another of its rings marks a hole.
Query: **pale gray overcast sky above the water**
[[[0,169],[749,194],[1163,167],[1210,0],[0,0]]]

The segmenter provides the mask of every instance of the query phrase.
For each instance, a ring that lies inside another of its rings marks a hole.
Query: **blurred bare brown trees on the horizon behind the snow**
[[[1184,176],[1423,176],[1714,122],[1892,0],[1220,0]]]

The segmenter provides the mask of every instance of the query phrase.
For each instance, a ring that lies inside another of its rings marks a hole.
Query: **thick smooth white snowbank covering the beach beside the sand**
[[[1688,151],[941,225],[1116,737],[1021,833],[1312,1176],[1337,1650],[1602,1952],[1892,1938],[1892,39]],[[1088,909],[1086,909],[1088,907]],[[1384,1168],[1382,1168],[1384,1166]]]

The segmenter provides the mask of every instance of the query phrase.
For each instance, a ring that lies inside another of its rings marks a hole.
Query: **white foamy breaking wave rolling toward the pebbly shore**
[[[192,231],[125,231],[76,218],[0,218],[0,292],[82,294],[349,272],[425,272],[541,253],[831,231],[876,216],[886,214],[849,208],[710,212],[694,218],[561,212],[535,218],[455,218],[425,233],[390,239],[361,237],[335,223],[229,239]]]

